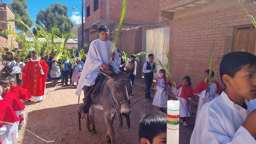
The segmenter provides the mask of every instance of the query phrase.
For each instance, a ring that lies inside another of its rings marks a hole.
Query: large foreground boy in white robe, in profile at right
[[[226,89],[200,110],[190,144],[256,144],[256,56],[232,52],[223,56],[220,78]]]

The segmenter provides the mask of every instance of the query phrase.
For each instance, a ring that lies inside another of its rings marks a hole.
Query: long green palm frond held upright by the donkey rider
[[[122,29],[124,20],[125,20],[125,18],[126,18],[126,15],[125,15],[126,8],[127,8],[126,0],[123,0],[122,12],[121,12],[121,16],[120,16],[120,21],[119,21],[119,25],[118,25],[118,30],[117,30],[116,36],[114,37],[114,40],[113,40],[113,43],[114,43],[114,44],[113,44],[113,45],[112,45],[112,44],[110,45],[111,52],[114,52],[114,50],[116,49],[116,43],[117,43],[118,38],[119,38],[119,36],[120,36],[120,32],[121,32],[121,29]],[[111,65],[111,62],[112,62],[112,58],[110,58],[110,65]]]

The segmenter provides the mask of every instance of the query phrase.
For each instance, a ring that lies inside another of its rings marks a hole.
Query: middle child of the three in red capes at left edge
[[[1,96],[6,102],[8,102],[12,106],[14,112],[19,117],[20,119],[19,128],[21,128],[23,124],[26,124],[25,118],[24,118],[25,106],[24,104],[22,104],[20,99],[13,92],[10,91],[9,80],[7,80],[6,78],[0,78],[0,85],[3,88],[3,93]]]

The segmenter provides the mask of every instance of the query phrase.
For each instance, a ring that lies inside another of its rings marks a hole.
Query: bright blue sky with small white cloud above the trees
[[[28,13],[30,18],[36,21],[36,14],[40,11],[40,9],[46,9],[51,4],[55,4],[56,2],[60,2],[62,5],[65,4],[68,6],[68,17],[70,20],[76,24],[82,23],[82,16],[81,16],[81,0],[26,0],[28,4]],[[11,0],[7,0],[6,3],[10,3]],[[76,7],[80,12],[77,10],[72,9],[72,6]]]

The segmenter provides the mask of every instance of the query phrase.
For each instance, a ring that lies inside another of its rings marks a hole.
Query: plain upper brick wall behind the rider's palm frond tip
[[[126,21],[157,23],[159,0],[127,0]],[[122,0],[110,0],[110,18],[120,19]]]

